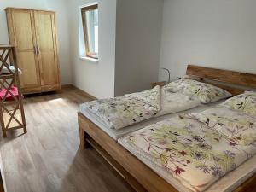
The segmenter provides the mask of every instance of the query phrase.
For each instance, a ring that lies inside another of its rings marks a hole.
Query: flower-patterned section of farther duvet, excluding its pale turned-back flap
[[[160,86],[130,96],[87,102],[86,108],[109,128],[121,129],[152,118],[160,111]]]

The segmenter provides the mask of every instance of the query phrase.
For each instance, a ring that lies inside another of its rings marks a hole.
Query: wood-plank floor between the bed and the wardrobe
[[[79,150],[79,104],[73,88],[25,99],[27,134],[0,135],[6,192],[132,191],[94,149]]]

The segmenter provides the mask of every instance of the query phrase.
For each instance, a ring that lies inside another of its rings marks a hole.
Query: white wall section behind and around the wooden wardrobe
[[[56,11],[61,66],[61,84],[72,83],[69,58],[69,34],[67,26],[66,0],[0,0],[0,44],[9,44],[8,29],[4,9],[6,7],[27,9],[48,9]]]

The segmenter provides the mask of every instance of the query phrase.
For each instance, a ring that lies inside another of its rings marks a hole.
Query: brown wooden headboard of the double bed
[[[187,73],[192,79],[200,79],[228,90],[234,96],[247,88],[256,89],[256,74],[240,73],[223,69],[188,65]]]

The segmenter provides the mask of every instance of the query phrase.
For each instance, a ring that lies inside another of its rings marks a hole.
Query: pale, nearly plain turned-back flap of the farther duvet
[[[179,92],[173,93],[163,87],[160,96],[160,112],[156,116],[185,111],[199,106],[200,103],[195,96],[186,96]]]

